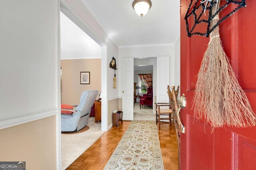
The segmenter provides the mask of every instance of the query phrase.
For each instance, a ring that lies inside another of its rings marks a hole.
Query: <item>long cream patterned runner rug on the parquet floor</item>
[[[155,121],[132,121],[104,170],[163,170]]]

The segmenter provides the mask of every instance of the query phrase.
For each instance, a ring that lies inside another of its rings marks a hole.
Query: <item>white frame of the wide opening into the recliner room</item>
[[[72,9],[72,7],[66,3],[66,0],[60,0],[60,8],[59,12],[65,14],[70,20],[72,20],[80,29],[82,29],[87,35],[89,35],[96,43],[98,43],[102,48],[101,54],[101,94],[102,94],[102,104],[101,104],[101,130],[108,131],[108,44],[101,39],[94,31],[91,29],[84,20]],[[60,14],[58,16],[58,46],[60,49]],[[60,68],[60,50],[59,50],[59,60],[58,67]],[[60,72],[60,69],[59,69]],[[60,73],[58,75],[58,81],[60,81]],[[59,86],[60,89],[60,86]],[[60,93],[58,96],[58,103],[60,108]],[[60,109],[59,109],[60,110]],[[57,157],[57,169],[61,169],[61,119],[60,119],[60,111],[56,117],[56,157]]]

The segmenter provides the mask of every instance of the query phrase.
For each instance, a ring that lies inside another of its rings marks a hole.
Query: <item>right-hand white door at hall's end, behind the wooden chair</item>
[[[169,102],[167,86],[170,84],[170,57],[157,57],[156,62],[156,102]]]

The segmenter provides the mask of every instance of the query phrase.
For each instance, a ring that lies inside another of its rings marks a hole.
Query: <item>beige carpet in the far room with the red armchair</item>
[[[145,107],[140,109],[140,103],[136,103],[134,106],[134,120],[152,120],[156,121],[156,114],[153,113],[153,109]]]

